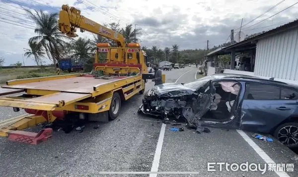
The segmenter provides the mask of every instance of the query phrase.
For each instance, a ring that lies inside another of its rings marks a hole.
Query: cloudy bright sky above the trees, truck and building
[[[136,24],[141,29],[141,46],[171,47],[179,50],[207,48],[230,40],[230,30],[240,37],[268,31],[298,18],[297,0],[0,0],[0,57],[4,66],[24,62],[35,65],[33,58],[24,57],[28,39],[37,36],[35,23],[23,8],[59,12],[63,4],[81,10],[81,15],[99,23],[119,22],[121,27]],[[279,4],[278,4],[279,3]],[[278,4],[275,8],[270,9]],[[267,13],[265,13],[268,11]],[[264,14],[265,13],[265,14]],[[256,17],[261,17],[255,19]],[[268,18],[267,20],[265,20]],[[255,19],[254,21],[252,21]],[[261,22],[262,20],[265,20]],[[250,22],[252,21],[252,22]],[[7,23],[8,22],[8,23]],[[260,22],[260,23],[259,23]],[[12,24],[9,24],[12,23]],[[15,24],[15,25],[13,25]],[[91,33],[80,33],[93,39]],[[47,58],[46,63],[51,63]]]

